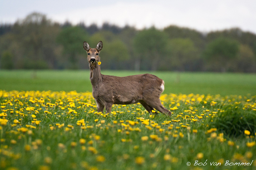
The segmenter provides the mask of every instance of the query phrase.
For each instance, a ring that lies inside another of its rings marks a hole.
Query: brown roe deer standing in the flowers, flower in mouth
[[[164,81],[152,74],[125,77],[101,74],[99,53],[102,47],[101,41],[96,48],[90,48],[87,42],[83,42],[83,48],[87,51],[92,96],[97,103],[97,111],[103,112],[106,107],[106,111],[111,112],[113,104],[126,105],[140,102],[148,112],[156,109],[171,116],[171,112],[161,104],[159,99],[164,91]]]

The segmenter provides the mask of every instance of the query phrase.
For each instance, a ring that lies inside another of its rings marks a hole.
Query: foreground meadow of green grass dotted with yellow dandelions
[[[256,96],[162,95],[97,112],[91,92],[1,91],[0,169],[255,169]]]

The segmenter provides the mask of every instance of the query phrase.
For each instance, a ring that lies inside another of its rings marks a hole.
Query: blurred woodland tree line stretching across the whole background
[[[256,72],[256,34],[239,28],[137,30],[109,23],[60,24],[41,13],[0,24],[0,68],[88,69],[85,40],[92,48],[104,43],[102,69]]]

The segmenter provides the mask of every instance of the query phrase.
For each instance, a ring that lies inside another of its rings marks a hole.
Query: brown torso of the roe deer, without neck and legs
[[[125,77],[102,75],[102,82],[93,88],[93,97],[112,100],[114,104],[131,104],[149,95],[160,96],[163,80],[152,74]]]

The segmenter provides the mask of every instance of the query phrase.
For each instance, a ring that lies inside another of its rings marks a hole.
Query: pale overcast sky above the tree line
[[[14,23],[32,12],[60,23],[109,22],[138,29],[178,25],[201,32],[239,27],[256,33],[255,0],[0,0],[0,23]]]

